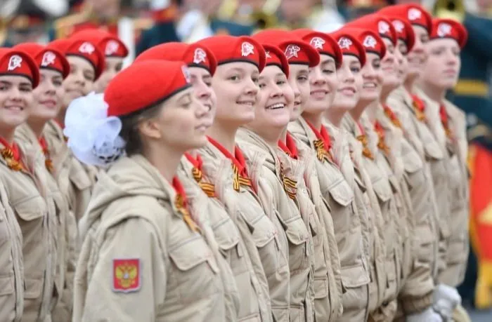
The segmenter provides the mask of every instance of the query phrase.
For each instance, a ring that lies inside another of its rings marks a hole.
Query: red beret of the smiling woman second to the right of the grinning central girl
[[[302,40],[313,46],[318,53],[331,56],[335,60],[337,68],[342,66],[342,51],[340,51],[337,41],[328,34],[315,32],[311,29],[293,30],[292,34],[301,37]]]

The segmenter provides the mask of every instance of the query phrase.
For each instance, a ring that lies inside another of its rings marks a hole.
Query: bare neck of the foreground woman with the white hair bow
[[[159,147],[159,149],[147,149],[143,155],[148,161],[159,170],[159,173],[169,182],[172,182],[176,175],[183,152],[177,152],[169,147]],[[162,156],[166,156],[162,158]]]

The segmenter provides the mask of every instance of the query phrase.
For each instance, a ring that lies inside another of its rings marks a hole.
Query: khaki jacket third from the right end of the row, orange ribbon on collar
[[[391,107],[390,107],[391,108]],[[392,111],[392,110],[391,110]],[[432,234],[430,222],[432,204],[425,202],[429,188],[425,181],[424,163],[417,150],[403,135],[399,119],[391,119],[383,112],[377,111],[377,120],[384,129],[384,144],[389,147],[392,165],[401,163],[403,173],[398,177],[399,187],[403,194],[403,205],[406,205],[406,217],[402,217],[402,225],[407,226],[408,238],[403,243],[402,287],[399,300],[403,313],[413,314],[424,311],[432,304],[434,281],[432,269],[428,262],[422,264],[418,252],[422,245],[421,234]],[[398,151],[400,149],[400,151]],[[399,166],[392,167],[393,170]],[[395,170],[396,172],[396,170]],[[423,199],[423,200],[422,200]]]

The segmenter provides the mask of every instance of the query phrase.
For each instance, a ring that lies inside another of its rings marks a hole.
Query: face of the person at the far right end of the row
[[[434,39],[427,43],[427,48],[429,58],[422,80],[441,90],[453,88],[460,73],[460,46],[453,39]]]

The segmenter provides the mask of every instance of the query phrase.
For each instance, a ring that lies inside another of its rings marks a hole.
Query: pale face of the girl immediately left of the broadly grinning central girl
[[[212,77],[217,96],[216,121],[239,127],[254,119],[258,78],[258,67],[249,62],[229,62],[217,67]]]

